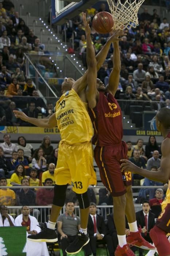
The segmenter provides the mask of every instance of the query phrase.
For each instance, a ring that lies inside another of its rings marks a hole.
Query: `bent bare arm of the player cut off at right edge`
[[[121,170],[138,173],[150,180],[166,183],[170,177],[170,139],[165,139],[161,145],[161,166],[157,172],[141,169],[126,159],[122,159]]]

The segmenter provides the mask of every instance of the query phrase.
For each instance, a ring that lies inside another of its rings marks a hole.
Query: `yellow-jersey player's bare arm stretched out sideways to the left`
[[[23,121],[31,123],[31,124],[34,124],[34,125],[36,125],[38,127],[54,128],[54,127],[57,126],[57,121],[56,121],[55,113],[52,114],[52,116],[50,116],[49,118],[42,118],[42,119],[28,117],[22,111],[18,111],[18,110],[13,110],[13,113],[15,114],[16,118],[20,118]]]

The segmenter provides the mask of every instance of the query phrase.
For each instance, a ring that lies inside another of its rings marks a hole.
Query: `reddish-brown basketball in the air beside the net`
[[[98,12],[93,18],[92,26],[98,33],[107,34],[113,29],[113,16],[109,12]]]

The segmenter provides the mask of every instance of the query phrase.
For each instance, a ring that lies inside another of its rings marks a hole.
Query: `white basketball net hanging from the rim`
[[[132,1],[132,3],[131,3]],[[121,3],[121,0],[107,0],[109,9],[114,20],[114,29],[130,29],[136,27],[138,23],[138,10],[145,0],[125,0],[125,3]],[[122,27],[123,26],[123,27]]]

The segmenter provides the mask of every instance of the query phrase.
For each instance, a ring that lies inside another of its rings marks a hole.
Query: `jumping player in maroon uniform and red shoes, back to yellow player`
[[[131,172],[121,173],[120,169],[120,159],[127,156],[127,145],[122,141],[122,113],[114,97],[119,85],[121,69],[119,43],[114,42],[113,48],[113,70],[109,84],[105,88],[97,79],[97,88],[95,84],[90,90],[87,88],[86,99],[94,127],[93,144],[96,145],[94,158],[100,170],[101,180],[113,196],[114,221],[119,241],[115,255],[134,255],[127,241],[133,240],[135,246],[143,249],[154,249],[154,246],[146,242],[138,231],[131,189]],[[127,241],[125,215],[131,231]]]

